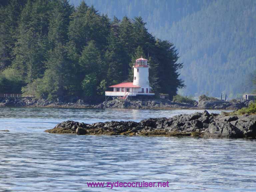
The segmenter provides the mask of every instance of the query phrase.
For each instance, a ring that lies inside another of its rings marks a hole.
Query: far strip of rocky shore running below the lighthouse
[[[76,102],[49,101],[34,98],[0,98],[0,107],[51,107],[51,108],[96,108],[96,109],[226,109],[235,110],[247,107],[248,101],[221,101],[221,100],[202,100],[190,103],[177,103],[170,100],[126,100],[119,102],[111,100],[101,104],[91,104],[83,100]]]

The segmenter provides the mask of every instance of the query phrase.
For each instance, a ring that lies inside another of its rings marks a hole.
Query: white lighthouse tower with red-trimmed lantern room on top
[[[147,59],[136,59],[136,63],[133,64],[133,85],[140,87],[141,93],[149,93],[149,63]]]

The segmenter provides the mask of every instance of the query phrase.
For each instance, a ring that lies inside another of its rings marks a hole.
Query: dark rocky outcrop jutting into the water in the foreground
[[[202,138],[255,138],[256,115],[226,116],[194,113],[140,122],[108,121],[93,124],[64,121],[47,133],[78,135],[195,136]]]

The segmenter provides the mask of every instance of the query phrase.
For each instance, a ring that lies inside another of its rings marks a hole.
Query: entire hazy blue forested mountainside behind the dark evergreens
[[[71,0],[77,5],[79,0]],[[86,0],[110,18],[141,16],[148,31],[173,42],[186,87],[183,95],[227,93],[237,97],[255,89],[255,0]]]

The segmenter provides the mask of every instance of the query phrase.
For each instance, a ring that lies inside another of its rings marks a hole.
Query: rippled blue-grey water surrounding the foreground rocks
[[[256,140],[55,135],[86,123],[199,110],[0,108],[0,191],[256,191]],[[210,111],[209,112],[220,112]],[[169,188],[89,188],[86,182],[166,182]]]

